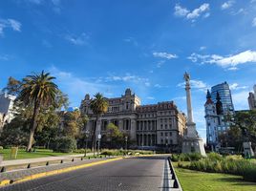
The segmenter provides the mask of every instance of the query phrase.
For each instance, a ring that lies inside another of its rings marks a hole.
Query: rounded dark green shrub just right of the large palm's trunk
[[[75,138],[63,137],[56,138],[53,142],[53,151],[61,153],[70,153],[76,149]]]

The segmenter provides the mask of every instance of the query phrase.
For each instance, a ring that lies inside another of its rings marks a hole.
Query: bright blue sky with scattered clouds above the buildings
[[[256,0],[9,0],[0,2],[0,87],[51,72],[79,106],[86,93],[130,87],[143,104],[174,100],[205,138],[205,91],[227,81],[235,109],[256,83]]]

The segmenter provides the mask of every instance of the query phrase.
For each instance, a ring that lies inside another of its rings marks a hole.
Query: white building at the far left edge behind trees
[[[11,96],[6,93],[0,94],[0,128],[6,123],[10,123],[14,118],[13,103],[16,96]]]

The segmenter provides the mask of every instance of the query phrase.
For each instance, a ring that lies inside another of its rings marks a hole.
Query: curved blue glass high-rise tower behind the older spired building
[[[222,99],[224,115],[230,113],[233,114],[234,105],[232,101],[231,91],[226,81],[211,88],[211,98],[214,103],[217,102],[217,93],[219,93]]]

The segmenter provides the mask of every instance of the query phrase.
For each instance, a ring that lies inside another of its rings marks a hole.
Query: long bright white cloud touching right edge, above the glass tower
[[[201,62],[203,64],[217,64],[223,68],[227,68],[228,70],[237,70],[238,65],[256,62],[256,52],[254,51],[245,51],[242,53],[237,53],[234,55],[222,56],[218,54],[211,55],[202,55],[198,53],[192,53],[187,57],[192,62]]]

